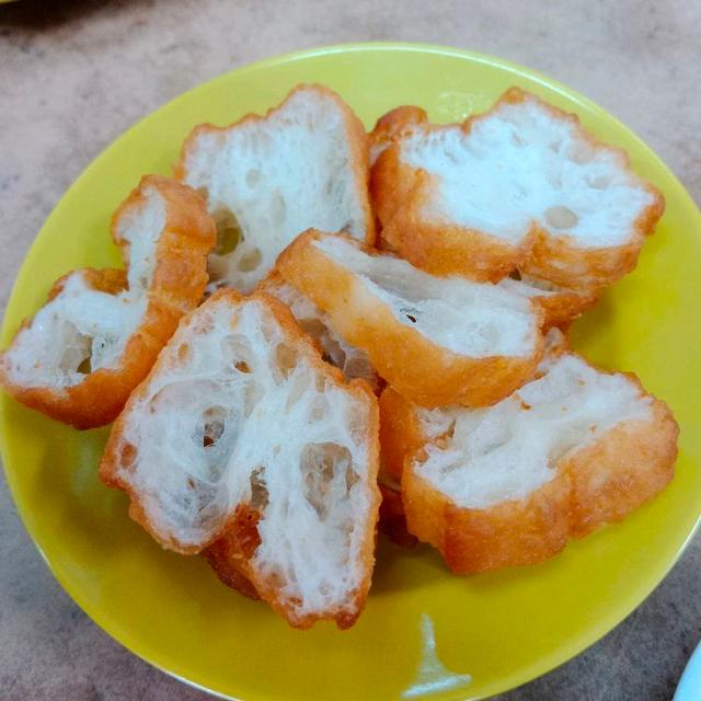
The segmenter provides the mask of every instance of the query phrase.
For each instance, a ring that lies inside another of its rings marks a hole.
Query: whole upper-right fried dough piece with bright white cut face
[[[635,266],[664,198],[575,115],[518,88],[462,124],[406,110],[370,136],[401,135],[371,175],[386,246],[438,275],[496,281],[519,267],[572,288]]]

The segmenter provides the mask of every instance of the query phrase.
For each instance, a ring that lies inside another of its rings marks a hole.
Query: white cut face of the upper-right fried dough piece
[[[401,158],[437,177],[422,216],[514,244],[537,221],[581,246],[620,245],[652,204],[618,152],[593,148],[532,100],[502,104],[468,135],[418,128],[401,142]]]

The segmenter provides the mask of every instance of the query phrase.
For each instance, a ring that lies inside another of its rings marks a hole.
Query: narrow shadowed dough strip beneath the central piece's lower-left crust
[[[261,280],[258,289],[277,297],[290,308],[302,331],[319,344],[324,360],[340,368],[346,379],[365,380],[376,394],[379,393],[382,380],[375,371],[367,353],[347,344],[333,329],[329,314],[286,283],[275,269]]]

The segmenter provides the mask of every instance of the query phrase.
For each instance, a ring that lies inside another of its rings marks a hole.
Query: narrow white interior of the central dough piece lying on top
[[[391,255],[368,255],[342,238],[314,242],[358,275],[394,318],[433,343],[470,357],[532,355],[538,337],[530,302],[496,285],[436,277]]]

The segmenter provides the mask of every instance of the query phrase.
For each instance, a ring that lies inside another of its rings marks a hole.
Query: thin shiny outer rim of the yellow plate
[[[417,54],[430,54],[438,56],[448,56],[453,58],[459,58],[463,60],[468,60],[470,62],[481,64],[497,68],[499,70],[507,70],[510,74],[515,77],[525,77],[529,80],[537,82],[539,85],[547,88],[548,90],[555,91],[558,94],[565,97],[567,101],[574,102],[577,105],[581,105],[585,110],[591,112],[600,112],[604,113],[611,124],[614,124],[619,129],[625,133],[627,137],[633,140],[639,147],[641,147],[646,157],[650,158],[656,168],[662,168],[667,175],[673,180],[676,185],[676,195],[681,197],[682,204],[686,205],[692,215],[693,218],[697,219],[697,225],[699,230],[701,230],[701,210],[697,206],[694,199],[691,197],[690,193],[685,187],[683,183],[677,177],[674,171],[662,160],[659,156],[652,149],[652,147],[647,146],[645,141],[641,137],[637,136],[631,128],[625,126],[618,117],[612,115],[608,110],[601,107],[598,103],[590,100],[589,97],[583,95],[578,91],[568,88],[566,84],[551,79],[544,73],[541,73],[538,70],[531,69],[529,67],[522,66],[509,59],[504,59],[494,55],[484,54],[481,51],[473,51],[470,49],[462,49],[448,45],[440,44],[432,44],[432,43],[421,43],[421,42],[387,42],[387,41],[377,41],[377,42],[354,42],[354,43],[342,43],[342,44],[330,44],[322,45],[311,48],[304,48],[300,50],[288,51],[285,54],[279,54],[275,56],[268,56],[265,58],[261,58],[251,62],[242,64],[239,67],[232,68],[228,71],[214,76],[203,82],[193,85],[188,90],[185,90],[182,93],[179,93],[171,100],[162,103],[151,112],[145,114],[142,117],[138,118],[134,124],[127,127],[125,130],[120,131],[117,136],[115,136],[111,142],[103,148],[99,153],[96,153],[90,162],[85,165],[85,168],[78,174],[78,176],[72,181],[72,183],[66,188],[66,191],[60,195],[59,199],[51,208],[50,212],[47,215],[46,219],[42,223],[37,233],[34,237],[27,252],[15,274],[14,283],[11,287],[10,295],[8,297],[8,302],[5,306],[5,311],[3,314],[2,325],[0,326],[0,345],[4,345],[2,342],[5,341],[10,335],[10,320],[9,320],[9,310],[16,303],[15,299],[19,295],[20,287],[24,286],[24,278],[28,275],[28,268],[31,267],[31,260],[36,256],[38,242],[44,237],[44,231],[48,221],[59,211],[64,206],[66,206],[67,196],[73,191],[83,180],[88,180],[91,176],[93,168],[96,168],[97,163],[102,161],[104,158],[108,158],[113,150],[117,150],[122,140],[127,137],[127,135],[131,134],[134,130],[139,129],[142,126],[142,123],[157,118],[161,112],[172,108],[174,104],[176,104],[180,100],[185,99],[186,96],[191,96],[193,93],[197,93],[198,91],[205,90],[206,88],[211,87],[212,84],[217,84],[219,82],[225,82],[230,79],[232,74],[245,74],[248,72],[254,72],[257,70],[264,70],[267,68],[272,68],[275,66],[280,66],[284,64],[289,64],[298,60],[311,59],[318,56],[331,56],[335,54],[350,54],[350,53],[363,53],[367,50],[380,50],[380,51],[411,51]],[[160,662],[157,662],[152,658],[146,656],[146,654],[141,654],[137,652],[138,648],[138,639],[134,639],[125,631],[115,631],[113,632],[113,627],[110,623],[110,619],[101,612],[100,609],[93,610],[85,600],[81,597],[81,591],[79,587],[73,587],[69,585],[67,579],[61,576],[57,570],[54,567],[51,561],[44,552],[42,545],[37,541],[35,532],[32,528],[30,528],[28,521],[28,513],[31,509],[27,505],[25,505],[20,496],[20,487],[14,480],[14,474],[16,470],[9,469],[9,448],[5,445],[4,437],[4,422],[5,422],[5,410],[4,405],[8,401],[13,401],[7,393],[0,394],[0,459],[2,460],[3,472],[5,476],[5,481],[8,483],[8,487],[10,494],[12,496],[12,501],[16,508],[16,512],[20,516],[20,520],[28,533],[32,543],[38,551],[39,555],[46,563],[49,572],[54,576],[54,578],[60,584],[61,588],[68,594],[68,596],[73,600],[73,602],[95,623],[103,632],[105,632],[112,640],[117,642],[119,645],[125,647],[130,654],[136,655],[150,666],[159,669],[160,671],[166,674],[168,676],[194,688],[205,693],[208,693],[215,698],[225,699],[228,701],[245,701],[242,697],[231,696],[229,693],[223,693],[214,689],[210,689],[206,686],[200,685],[199,682],[188,679],[177,671],[173,669],[168,669]],[[674,558],[670,558],[669,561],[665,562],[662,566],[659,573],[652,577],[652,583],[647,584],[647,586],[643,587],[642,593],[639,593],[640,596],[632,597],[631,600],[627,601],[624,606],[620,606],[616,608],[614,612],[611,612],[609,616],[600,617],[595,624],[593,624],[589,630],[585,633],[582,633],[578,637],[571,639],[568,642],[559,645],[554,648],[550,654],[540,657],[538,660],[533,662],[529,667],[521,670],[520,674],[513,673],[512,677],[504,677],[503,683],[494,683],[495,688],[493,690],[489,690],[489,696],[495,693],[504,693],[506,691],[512,691],[521,686],[537,679],[545,674],[549,674],[562,666],[566,662],[570,662],[577,655],[585,652],[588,647],[594,645],[594,643],[601,640],[605,635],[611,632],[616,627],[622,623],[639,606],[641,606],[650,595],[659,586],[659,584],[665,579],[665,577],[669,574],[671,568],[677,564],[681,555],[685,553],[691,540],[693,540],[697,532],[701,528],[701,512],[697,514],[696,521],[693,527],[690,529],[689,533],[685,538],[681,545],[678,548]],[[106,623],[106,624],[105,624]],[[468,694],[469,689],[467,690]],[[262,697],[261,697],[262,698]],[[466,699],[464,696],[455,696],[450,697],[455,699]],[[487,696],[468,696],[469,699],[484,699],[489,698]]]

